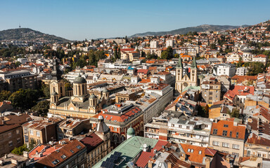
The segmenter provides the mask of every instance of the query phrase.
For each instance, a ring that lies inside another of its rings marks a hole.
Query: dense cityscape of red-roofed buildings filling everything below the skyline
[[[270,20],[84,41],[14,31],[0,36],[0,167],[270,167]]]

